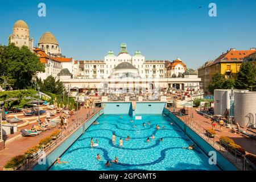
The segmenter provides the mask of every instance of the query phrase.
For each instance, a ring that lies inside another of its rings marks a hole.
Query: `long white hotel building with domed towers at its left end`
[[[40,57],[41,63],[46,65],[46,71],[38,73],[42,80],[51,75],[62,81],[66,88],[90,88],[104,92],[130,92],[136,89],[148,92],[168,88],[186,91],[193,86],[195,94],[203,93],[200,88],[201,78],[197,77],[197,72],[187,69],[180,59],[172,62],[146,60],[139,51],[131,56],[127,52],[126,44],[122,43],[118,56],[109,51],[104,60],[76,61],[61,54],[59,43],[51,32],[41,36],[38,47],[33,47],[29,32],[27,23],[18,20],[14,23],[9,43],[18,47],[27,46]]]

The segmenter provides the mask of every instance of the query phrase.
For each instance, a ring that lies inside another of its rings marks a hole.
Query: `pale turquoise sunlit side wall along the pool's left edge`
[[[92,125],[92,123],[96,121],[96,119],[100,117],[100,115],[102,114],[104,114],[104,109],[97,111],[97,113],[95,113],[91,118],[89,118],[88,121],[84,123],[85,130],[87,130],[90,127],[90,125]],[[71,147],[77,139],[79,139],[82,133],[83,127],[81,126],[73,134],[66,138],[64,142],[62,142],[59,146],[57,146],[54,150],[47,154],[45,164],[36,164],[32,171],[47,171],[52,166],[52,164],[55,163],[56,159],[63,155],[64,152],[67,151],[68,148]]]

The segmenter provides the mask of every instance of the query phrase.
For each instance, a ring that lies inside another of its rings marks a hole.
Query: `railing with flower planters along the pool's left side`
[[[55,147],[59,146],[60,143],[62,143],[67,137],[73,134],[81,126],[83,127],[83,131],[84,131],[85,121],[99,110],[100,108],[94,108],[88,111],[87,113],[79,115],[79,117],[77,117],[77,121],[75,121],[75,119],[72,119],[72,122],[69,123],[67,128],[60,131],[59,137],[57,137],[55,140],[52,140],[48,144],[48,146],[43,147],[41,151],[34,154],[30,159],[26,159],[26,162],[22,167],[19,168],[19,170],[26,170],[26,171],[31,170],[33,167],[36,166],[36,164],[38,164],[40,159],[43,159],[46,157],[45,155],[47,154],[47,152],[52,151]]]

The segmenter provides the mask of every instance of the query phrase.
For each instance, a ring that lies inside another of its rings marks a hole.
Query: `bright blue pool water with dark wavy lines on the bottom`
[[[196,150],[182,148],[193,142],[177,125],[170,125],[169,117],[142,115],[142,120],[135,120],[130,115],[103,114],[97,121],[99,125],[90,126],[61,156],[61,160],[68,163],[54,164],[49,170],[220,170],[208,163],[208,156],[199,147]],[[164,128],[156,130],[155,125]],[[113,133],[115,144],[112,143]],[[147,143],[146,139],[152,134],[155,139]],[[127,135],[131,137],[129,141],[124,140]],[[90,147],[91,137],[94,143],[98,139],[98,147]],[[123,147],[119,147],[119,138],[123,139]],[[160,142],[160,138],[164,140]],[[101,155],[101,161],[96,160],[97,154]],[[118,164],[105,167],[106,160],[111,161],[115,156]]]

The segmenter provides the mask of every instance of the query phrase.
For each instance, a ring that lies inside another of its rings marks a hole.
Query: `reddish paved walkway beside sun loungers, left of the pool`
[[[72,122],[76,122],[77,118],[83,118],[85,114],[91,110],[93,109],[80,109],[79,111],[77,111],[75,115],[72,115],[68,119],[69,125],[71,125]],[[55,117],[57,117],[57,114],[55,115]],[[26,128],[29,127],[31,126],[26,126]],[[6,162],[10,160],[13,156],[24,154],[24,152],[26,152],[28,148],[36,146],[41,139],[48,137],[55,130],[59,130],[59,127],[56,127],[53,130],[45,131],[38,137],[22,137],[14,140],[9,144],[6,144],[5,149],[0,151],[0,170],[3,169],[3,166],[6,164]],[[17,131],[17,133],[20,134],[19,131]]]

